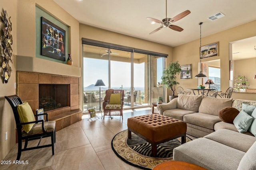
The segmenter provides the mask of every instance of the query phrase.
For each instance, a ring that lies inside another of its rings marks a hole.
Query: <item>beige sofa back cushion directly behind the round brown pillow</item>
[[[219,115],[221,109],[232,106],[232,98],[211,98],[203,96],[198,112]]]

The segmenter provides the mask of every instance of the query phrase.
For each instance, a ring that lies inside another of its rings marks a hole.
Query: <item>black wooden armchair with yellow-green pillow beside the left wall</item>
[[[12,107],[14,118],[16,121],[17,133],[18,133],[18,155],[17,160],[20,160],[21,152],[25,150],[40,149],[44,147],[52,147],[52,155],[54,155],[54,143],[55,143],[55,121],[48,121],[48,113],[36,114],[32,112],[31,107],[28,103],[23,103],[22,100],[16,95],[5,96],[6,100]],[[19,105],[19,106],[18,106]],[[20,109],[20,106],[26,106],[24,109]],[[19,111],[18,111],[19,109]],[[27,110],[26,110],[27,109]],[[26,113],[24,113],[26,110]],[[22,113],[23,111],[23,113]],[[32,115],[31,115],[32,114]],[[20,116],[21,115],[21,116]],[[44,120],[37,120],[35,117],[40,115],[46,115],[46,122]],[[33,117],[33,121],[24,121],[26,116]],[[37,121],[36,121],[37,120]],[[30,130],[26,127],[30,126]],[[28,131],[29,130],[29,131]],[[51,137],[51,144],[40,145],[41,139],[44,137]],[[28,146],[28,141],[40,139],[36,147]],[[22,140],[25,140],[24,149],[22,149]]]

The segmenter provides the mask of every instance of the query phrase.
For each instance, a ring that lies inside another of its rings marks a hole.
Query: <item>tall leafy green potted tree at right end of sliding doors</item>
[[[165,69],[164,69],[164,75],[161,77],[163,84],[166,86],[166,88],[170,88],[172,90],[172,96],[169,96],[169,100],[171,101],[173,98],[176,98],[178,96],[174,96],[175,92],[175,86],[177,84],[180,84],[176,81],[176,74],[180,74],[181,68],[178,61],[170,63]]]

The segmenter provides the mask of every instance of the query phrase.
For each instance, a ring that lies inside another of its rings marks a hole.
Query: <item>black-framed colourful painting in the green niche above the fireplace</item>
[[[41,55],[66,61],[66,31],[41,17]]]

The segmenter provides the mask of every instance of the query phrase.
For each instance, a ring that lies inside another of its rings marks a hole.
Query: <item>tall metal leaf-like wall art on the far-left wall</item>
[[[2,78],[3,83],[8,83],[8,80],[11,76],[12,68],[9,63],[12,63],[12,22],[10,21],[11,17],[8,17],[6,10],[2,12],[1,20],[4,25],[1,30],[1,57],[2,57]]]

